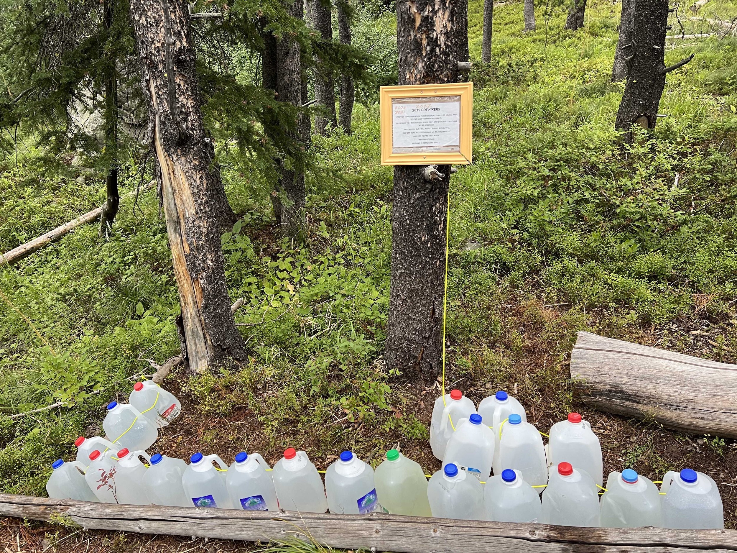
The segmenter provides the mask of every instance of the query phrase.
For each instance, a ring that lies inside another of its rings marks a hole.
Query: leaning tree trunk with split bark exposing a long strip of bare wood
[[[132,0],[130,18],[161,171],[186,347],[182,355],[190,372],[203,372],[245,358],[220,248],[219,223],[228,201],[203,126],[186,2]]]

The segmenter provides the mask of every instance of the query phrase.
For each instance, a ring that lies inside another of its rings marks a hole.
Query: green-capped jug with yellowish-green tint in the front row
[[[430,517],[425,471],[396,449],[386,452],[386,460],[374,471],[376,493],[381,506],[394,515]]]

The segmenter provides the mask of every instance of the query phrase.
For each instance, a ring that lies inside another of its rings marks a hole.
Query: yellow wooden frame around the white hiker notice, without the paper
[[[459,97],[455,100],[455,97]],[[432,150],[432,147],[394,147],[394,100],[427,99],[438,102],[460,103],[459,143],[451,148],[457,151]],[[442,99],[442,100],[441,100]],[[449,100],[451,99],[451,100]],[[381,114],[381,164],[382,165],[465,165],[471,163],[472,121],[473,121],[473,83],[446,83],[439,85],[382,86],[380,89]],[[395,150],[418,150],[397,152]],[[419,151],[422,150],[422,151]]]

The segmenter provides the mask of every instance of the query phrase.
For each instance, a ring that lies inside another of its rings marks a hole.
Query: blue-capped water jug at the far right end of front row
[[[704,473],[685,468],[668,470],[660,491],[666,528],[724,528],[724,507],[716,482]]]

